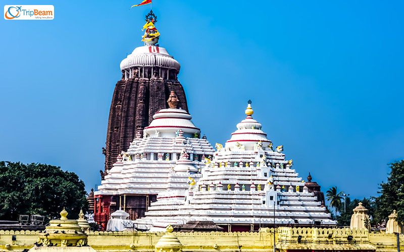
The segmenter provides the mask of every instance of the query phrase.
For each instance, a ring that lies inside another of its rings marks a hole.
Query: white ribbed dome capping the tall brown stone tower
[[[139,46],[122,60],[122,71],[133,67],[161,67],[180,71],[180,64],[168,54],[166,48],[154,45]]]

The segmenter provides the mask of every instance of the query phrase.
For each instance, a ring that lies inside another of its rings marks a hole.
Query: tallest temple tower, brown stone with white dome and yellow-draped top
[[[154,26],[156,22],[156,16],[150,11],[143,27],[144,45],[135,48],[121,62],[122,79],[112,96],[102,178],[119,153],[129,148],[136,133],[143,135],[153,115],[168,108],[166,101],[171,91],[177,94],[178,107],[188,111],[184,89],[177,79],[180,64],[157,44],[160,33]]]

